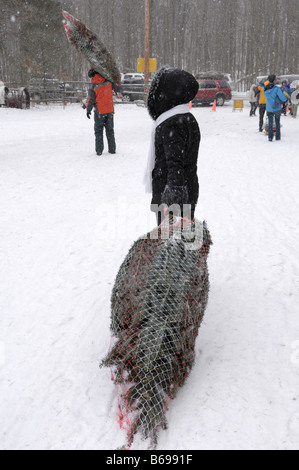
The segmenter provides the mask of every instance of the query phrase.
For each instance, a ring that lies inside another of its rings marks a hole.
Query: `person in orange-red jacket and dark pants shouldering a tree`
[[[109,153],[116,153],[114,136],[114,107],[112,95],[112,83],[103,78],[95,70],[88,72],[91,78],[91,87],[87,98],[87,117],[90,119],[94,109],[94,131],[96,142],[96,153],[102,155],[104,150],[103,132],[106,129]]]

